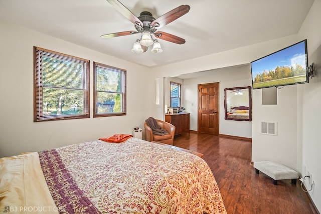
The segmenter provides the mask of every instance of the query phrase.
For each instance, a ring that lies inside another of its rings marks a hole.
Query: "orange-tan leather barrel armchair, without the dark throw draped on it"
[[[147,141],[156,141],[161,143],[166,143],[173,145],[174,143],[174,135],[175,135],[175,126],[171,123],[157,120],[155,119],[157,124],[161,126],[162,129],[165,129],[169,132],[169,134],[166,134],[165,136],[161,135],[155,135],[152,133],[152,129],[147,125],[147,123],[144,123],[145,133],[146,133],[146,140]]]

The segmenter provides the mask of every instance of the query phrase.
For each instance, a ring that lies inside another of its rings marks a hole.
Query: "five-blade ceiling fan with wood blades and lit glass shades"
[[[170,24],[171,22],[177,20],[183,15],[187,14],[190,11],[190,6],[181,5],[172,11],[158,17],[157,19],[152,17],[152,14],[149,12],[141,12],[139,17],[136,17],[132,12],[130,12],[124,5],[122,5],[117,0],[107,0],[115,9],[120,12],[124,17],[130,20],[134,26],[136,31],[124,31],[112,34],[101,35],[102,38],[112,38],[112,37],[120,37],[127,36],[132,34],[142,34],[140,40],[136,40],[134,43],[134,47],[131,50],[133,53],[140,54],[147,51],[148,46],[153,45],[151,49],[152,53],[162,53],[163,50],[161,48],[161,44],[155,39],[152,38],[154,35],[158,39],[166,40],[176,44],[184,44],[185,40],[178,36],[157,31],[158,29]],[[157,32],[156,32],[157,31]]]

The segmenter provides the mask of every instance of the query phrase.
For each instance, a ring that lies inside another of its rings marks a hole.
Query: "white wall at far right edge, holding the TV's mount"
[[[321,0],[314,1],[298,33],[298,40],[307,39],[308,62],[314,62],[316,75],[308,84],[298,87],[298,167],[303,175],[312,174],[315,185],[309,192],[321,211]],[[305,173],[304,173],[305,166]],[[308,184],[305,185],[309,188]]]

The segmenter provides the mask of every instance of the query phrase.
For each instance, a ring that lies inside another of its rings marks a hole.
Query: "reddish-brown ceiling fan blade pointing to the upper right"
[[[108,1],[108,0],[107,0]],[[177,20],[181,16],[187,14],[190,11],[191,7],[188,5],[181,5],[172,11],[164,14],[161,17],[155,19],[150,26],[155,27],[157,29],[163,28],[164,26],[170,24],[171,22]],[[158,24],[158,25],[157,25]]]

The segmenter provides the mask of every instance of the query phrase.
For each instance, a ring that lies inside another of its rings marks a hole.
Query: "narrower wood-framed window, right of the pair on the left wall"
[[[94,117],[126,115],[126,71],[94,62]]]

